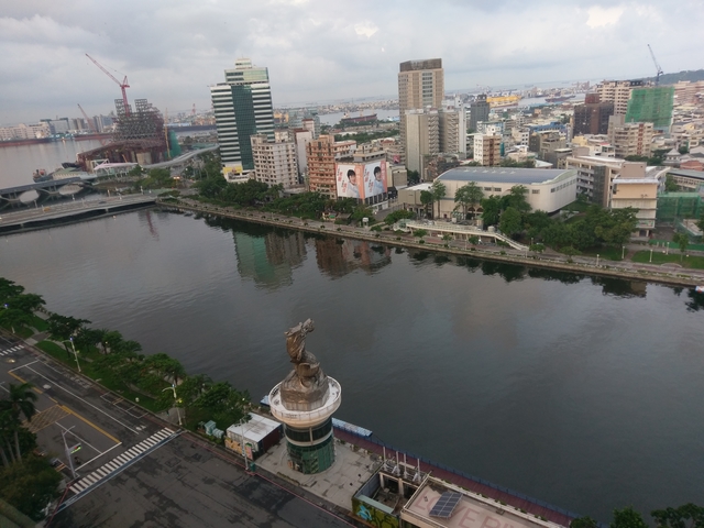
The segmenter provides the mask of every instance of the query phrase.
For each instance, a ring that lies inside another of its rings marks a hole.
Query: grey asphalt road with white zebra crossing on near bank
[[[37,393],[28,426],[72,481],[52,527],[352,526],[271,476],[246,473],[239,457],[0,336],[0,389],[24,381]],[[80,450],[69,460],[65,446]]]

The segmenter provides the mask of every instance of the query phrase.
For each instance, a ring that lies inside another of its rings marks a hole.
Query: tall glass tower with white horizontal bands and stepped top
[[[224,70],[226,81],[210,87],[216,114],[220,160],[235,172],[254,168],[250,138],[264,134],[274,141],[274,112],[268,70],[239,58]]]

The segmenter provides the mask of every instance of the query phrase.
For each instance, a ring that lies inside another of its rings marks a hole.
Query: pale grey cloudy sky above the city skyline
[[[704,67],[702,0],[0,0],[0,123],[210,108],[237,57],[274,105],[395,97],[398,63],[441,57],[447,91]]]

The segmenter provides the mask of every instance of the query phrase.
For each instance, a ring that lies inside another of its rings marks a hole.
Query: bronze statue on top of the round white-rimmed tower
[[[311,319],[299,322],[285,332],[286,350],[294,370],[282,382],[284,406],[296,410],[312,410],[328,394],[328,377],[314,354],[306,350],[306,334],[315,330]]]

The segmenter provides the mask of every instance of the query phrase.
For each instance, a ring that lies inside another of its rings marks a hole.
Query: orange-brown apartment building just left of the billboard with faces
[[[337,198],[336,160],[352,154],[355,147],[355,141],[334,141],[331,134],[321,134],[317,140],[306,143],[308,190]]]

